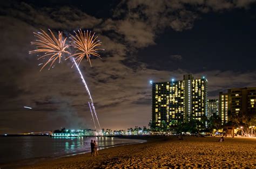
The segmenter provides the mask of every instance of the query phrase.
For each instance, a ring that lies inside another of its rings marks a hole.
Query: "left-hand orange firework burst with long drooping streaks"
[[[51,66],[54,64],[54,62],[58,58],[59,58],[59,62],[60,62],[60,58],[62,57],[63,53],[71,54],[68,51],[65,51],[66,48],[69,47],[69,45],[65,45],[66,38],[64,40],[62,40],[62,32],[58,32],[58,39],[57,39],[50,29],[49,29],[49,31],[50,31],[52,37],[50,37],[43,30],[41,30],[41,31],[42,32],[38,32],[38,33],[33,32],[35,34],[35,37],[37,37],[38,39],[36,40],[36,42],[31,42],[31,44],[37,45],[37,47],[36,47],[37,50],[29,52],[29,53],[44,52],[44,55],[38,59],[50,57],[50,59],[48,61],[46,61],[46,63],[42,66],[40,71],[42,71],[42,69],[47,64],[49,64],[51,62],[51,65],[49,67],[49,69],[50,69]]]

